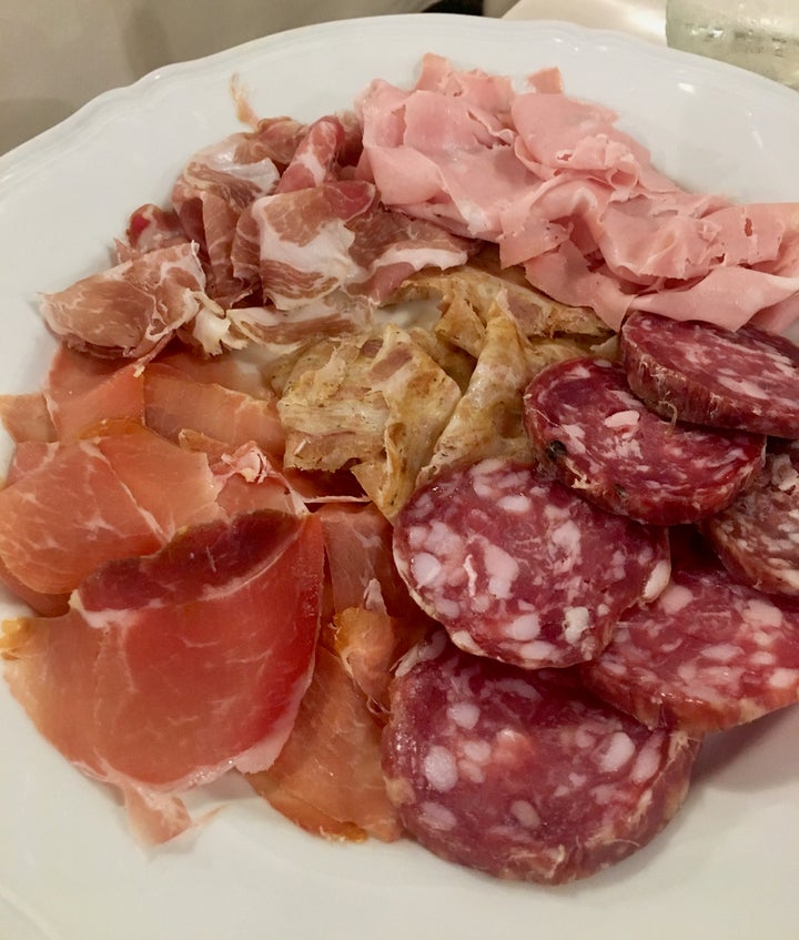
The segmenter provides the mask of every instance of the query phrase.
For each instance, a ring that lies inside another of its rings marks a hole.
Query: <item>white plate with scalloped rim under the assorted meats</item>
[[[427,50],[524,74],[559,65],[684,183],[799,201],[799,99],[756,75],[621,36],[411,16],[270,37],[105,94],[0,158],[0,391],[51,348],[37,291],[109,256],[127,213],[166,198],[192,151],[236,129],[233,72],[262,114],[312,119]],[[14,609],[9,605],[4,613]],[[677,820],[615,869],[562,889],[493,881],[409,842],[330,845],[239,794],[194,839],[143,852],[113,797],[63,761],[0,689],[3,940],[789,938],[799,923],[799,709],[711,740]]]

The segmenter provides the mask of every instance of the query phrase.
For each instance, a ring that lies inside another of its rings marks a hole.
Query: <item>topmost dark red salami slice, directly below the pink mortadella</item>
[[[630,387],[664,417],[799,438],[799,346],[785,336],[637,312],[619,348]]]

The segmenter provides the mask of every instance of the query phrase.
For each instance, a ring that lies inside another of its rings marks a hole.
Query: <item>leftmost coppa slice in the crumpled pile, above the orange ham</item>
[[[158,249],[45,294],[41,312],[75,350],[140,358],[161,348],[210,302],[198,246]]]

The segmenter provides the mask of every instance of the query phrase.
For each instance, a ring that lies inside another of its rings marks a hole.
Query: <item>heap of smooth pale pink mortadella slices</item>
[[[796,204],[688,193],[556,77],[502,77],[425,58],[416,87],[373,82],[358,100],[358,172],[386,206],[499,245],[544,293],[614,330],[647,310],[737,329],[799,316]]]

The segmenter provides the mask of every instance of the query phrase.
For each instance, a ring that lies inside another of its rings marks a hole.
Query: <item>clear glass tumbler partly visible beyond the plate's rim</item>
[[[799,89],[799,0],[667,0],[666,40]]]

